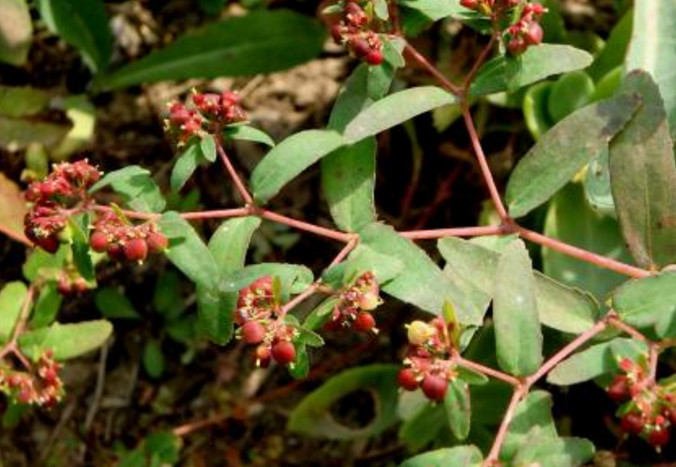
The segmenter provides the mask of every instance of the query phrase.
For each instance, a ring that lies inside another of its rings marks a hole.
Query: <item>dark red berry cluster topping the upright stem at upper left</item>
[[[193,136],[201,136],[203,131],[218,133],[220,127],[247,120],[240,101],[239,94],[233,91],[194,93],[191,108],[180,102],[170,105],[167,128],[183,143]]]

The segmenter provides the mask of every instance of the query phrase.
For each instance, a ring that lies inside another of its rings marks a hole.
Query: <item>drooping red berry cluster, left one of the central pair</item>
[[[240,326],[237,337],[256,345],[256,365],[267,368],[272,360],[288,365],[296,360],[293,340],[298,331],[284,322],[274,279],[264,276],[239,292],[235,321]]]

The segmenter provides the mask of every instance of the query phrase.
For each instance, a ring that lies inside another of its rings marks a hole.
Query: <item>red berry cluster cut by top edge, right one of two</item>
[[[505,30],[507,50],[512,55],[521,55],[531,45],[542,42],[544,32],[539,21],[547,9],[540,3],[523,0],[460,0],[460,4],[484,15],[497,17],[506,17],[511,10],[521,7],[519,19]]]

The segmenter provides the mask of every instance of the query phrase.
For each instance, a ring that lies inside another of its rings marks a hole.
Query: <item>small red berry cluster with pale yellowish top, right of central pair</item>
[[[340,301],[334,307],[325,328],[337,330],[351,327],[359,332],[377,333],[376,321],[370,312],[382,302],[376,277],[372,272],[365,272],[340,294]]]

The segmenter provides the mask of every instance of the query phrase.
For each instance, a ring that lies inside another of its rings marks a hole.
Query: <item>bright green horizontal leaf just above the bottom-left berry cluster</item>
[[[105,320],[54,323],[48,328],[24,333],[19,338],[19,347],[32,360],[46,350],[53,350],[56,360],[68,360],[102,346],[112,332],[113,326]]]

